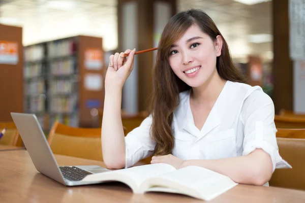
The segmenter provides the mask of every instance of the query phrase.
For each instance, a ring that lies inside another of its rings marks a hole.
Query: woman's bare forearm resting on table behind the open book
[[[271,158],[261,149],[256,149],[246,156],[215,160],[186,160],[182,167],[189,165],[207,168],[242,184],[263,185],[272,175]]]

